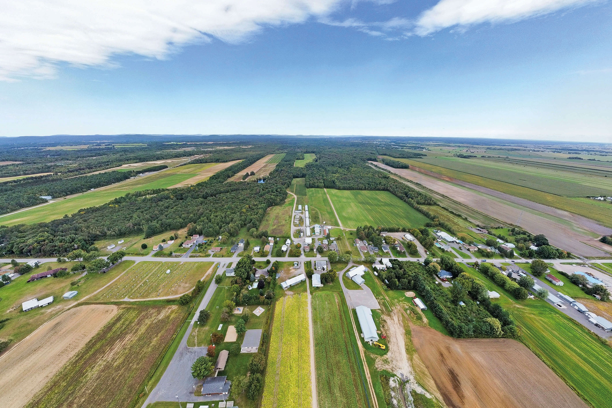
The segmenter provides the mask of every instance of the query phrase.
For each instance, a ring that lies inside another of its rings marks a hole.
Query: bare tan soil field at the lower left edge
[[[18,408],[26,404],[117,310],[113,305],[73,308],[2,356],[2,407]]]

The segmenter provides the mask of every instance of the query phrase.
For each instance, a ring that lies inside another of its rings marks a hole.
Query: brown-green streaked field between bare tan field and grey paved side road
[[[35,395],[26,407],[129,407],[145,391],[144,380],[163,357],[185,311],[179,306],[119,308],[47,385],[29,388],[29,395]]]

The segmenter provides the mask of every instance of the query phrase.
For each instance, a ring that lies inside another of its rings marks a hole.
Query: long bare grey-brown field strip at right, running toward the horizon
[[[599,249],[605,247],[604,243],[600,243],[599,240],[590,237],[586,231],[584,233],[578,231],[584,231],[583,227],[592,230],[603,229],[611,232],[612,230],[602,227],[594,223],[594,221],[580,217],[579,215],[547,207],[553,212],[558,212],[559,214],[557,217],[563,215],[561,213],[565,213],[566,218],[564,219],[573,224],[573,226],[569,226],[546,218],[544,214],[537,215],[538,211],[533,210],[533,207],[539,208],[545,206],[535,202],[531,202],[531,206],[528,200],[513,197],[499,191],[487,189],[487,193],[482,193],[480,190],[482,190],[483,187],[477,185],[472,186],[479,190],[471,190],[470,188],[453,185],[450,182],[430,177],[423,172],[414,171],[412,169],[394,169],[389,166],[381,165],[380,163],[376,165],[380,168],[394,172],[405,179],[418,182],[427,188],[431,188],[431,190],[452,197],[456,201],[490,215],[493,218],[521,226],[527,231],[532,232],[532,234],[545,234],[553,245],[574,254],[583,256],[609,256],[608,253]],[[494,196],[488,193],[494,194]],[[520,204],[518,201],[520,201]],[[515,206],[515,204],[518,205]],[[521,205],[526,204],[530,207],[521,207]],[[588,243],[588,245],[586,243]],[[593,247],[591,247],[591,245]]]

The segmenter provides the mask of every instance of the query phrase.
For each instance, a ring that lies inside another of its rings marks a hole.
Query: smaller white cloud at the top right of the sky
[[[452,26],[521,20],[594,0],[441,0],[417,18],[415,32],[428,35]]]

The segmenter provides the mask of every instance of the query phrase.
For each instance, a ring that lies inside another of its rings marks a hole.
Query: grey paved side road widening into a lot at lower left
[[[224,270],[222,267],[219,267],[215,275],[220,275]],[[160,379],[159,383],[151,391],[151,394],[149,394],[143,407],[155,401],[174,401],[176,396],[181,401],[191,402],[216,401],[220,399],[219,396],[206,397],[193,395],[193,386],[197,385],[199,380],[192,377],[191,366],[196,358],[206,355],[207,347],[187,347],[187,339],[193,329],[193,323],[198,319],[200,310],[206,308],[208,302],[211,301],[215,289],[217,289],[217,284],[212,280],[211,286],[208,287],[206,294],[204,294],[204,298],[198,306],[195,316],[189,322],[187,332],[185,332],[181,344],[179,344],[178,349],[174,353],[170,365],[168,365],[168,368],[163,373],[162,379]]]

